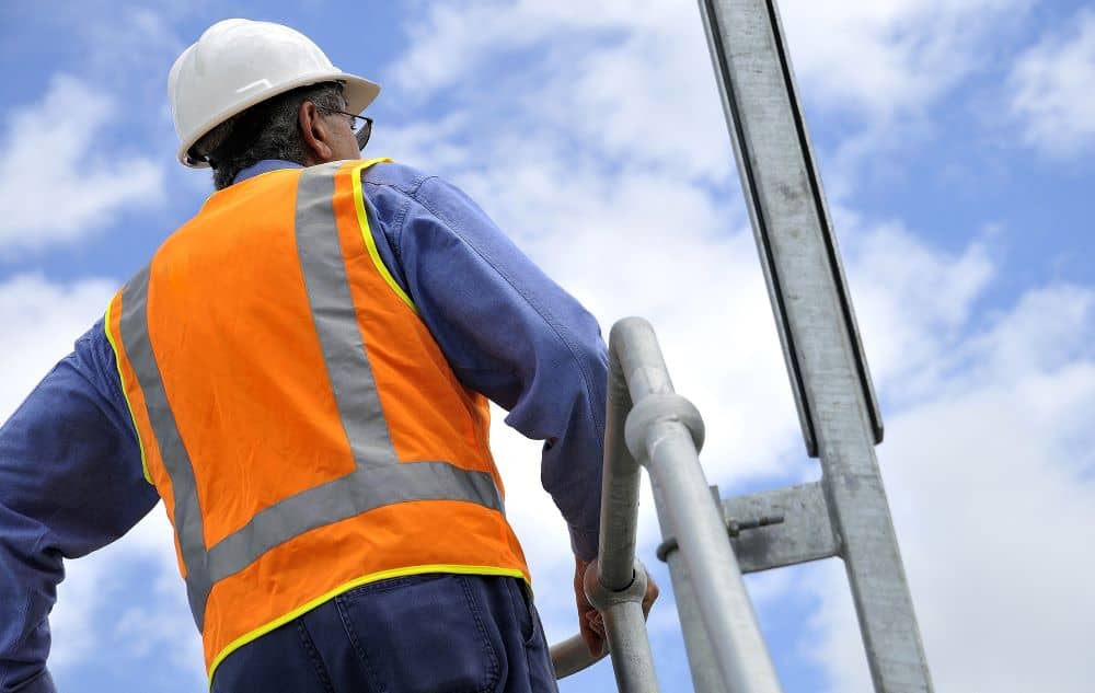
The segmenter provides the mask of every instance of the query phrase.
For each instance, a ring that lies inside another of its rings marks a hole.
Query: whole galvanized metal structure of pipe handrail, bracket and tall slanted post
[[[774,0],[700,0],[741,188],[820,482],[718,500],[700,466],[703,421],[675,393],[653,328],[609,339],[601,555],[586,589],[621,692],[657,691],[635,561],[641,467],[650,475],[695,690],[781,691],[744,573],[840,557],[879,693],[933,690],[874,447],[883,424]],[[748,530],[748,531],[746,531]],[[552,647],[560,678],[595,658]]]

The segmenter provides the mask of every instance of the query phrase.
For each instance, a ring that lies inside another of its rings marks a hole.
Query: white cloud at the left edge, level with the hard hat
[[[72,242],[124,209],[159,204],[152,160],[96,143],[117,104],[102,89],[57,74],[43,100],[5,114],[0,137],[0,251]]]

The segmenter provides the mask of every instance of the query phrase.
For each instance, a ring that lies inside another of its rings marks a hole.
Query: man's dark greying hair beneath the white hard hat
[[[298,123],[300,105],[310,101],[324,111],[341,111],[346,107],[342,90],[337,82],[323,82],[278,94],[209,130],[191,152],[209,162],[218,190],[264,159],[304,165],[309,151]]]

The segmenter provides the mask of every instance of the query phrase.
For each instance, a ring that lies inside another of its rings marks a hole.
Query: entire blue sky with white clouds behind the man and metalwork
[[[887,440],[936,688],[1090,690],[1095,621],[1095,11],[781,3]],[[675,0],[0,5],[0,417],[210,192],[174,162],[165,76],[212,22],[284,22],[383,85],[369,152],[456,182],[607,330],[658,330],[723,495],[817,478],[738,189],[699,11]],[[502,417],[497,417],[500,419]],[[497,425],[552,640],[575,631],[538,444]],[[62,690],[195,691],[162,509],[72,562]],[[657,523],[641,557],[662,690],[687,665]],[[788,692],[869,691],[839,563],[750,577]],[[607,665],[564,691],[612,690]]]

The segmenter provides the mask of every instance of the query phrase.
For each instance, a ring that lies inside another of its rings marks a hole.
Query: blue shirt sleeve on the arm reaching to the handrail
[[[543,487],[575,555],[592,558],[608,380],[597,321],[454,186],[422,178],[400,207],[385,230],[397,279],[461,382],[545,441]]]

